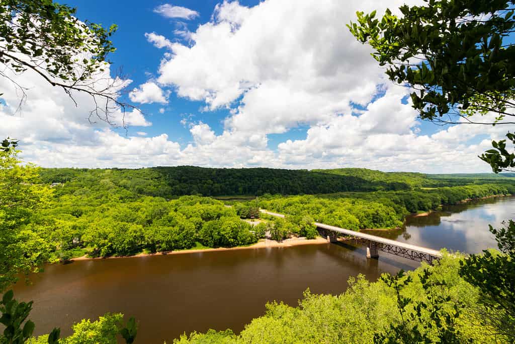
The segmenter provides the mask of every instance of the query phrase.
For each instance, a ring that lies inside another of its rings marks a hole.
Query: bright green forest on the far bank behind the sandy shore
[[[186,179],[186,171],[190,168],[165,170],[182,171],[183,185],[193,185],[197,180],[195,174],[191,180]],[[235,185],[258,185],[260,178],[266,176],[265,172],[272,176],[281,175],[288,181],[294,181],[298,173],[311,173],[273,169],[198,170],[231,175],[230,184]],[[404,185],[409,189],[295,196],[267,193],[249,201],[226,201],[232,205],[229,207],[220,200],[201,195],[167,194],[166,198],[148,195],[160,193],[159,185],[163,179],[157,178],[158,171],[38,169],[35,181],[50,195],[45,206],[39,207],[27,221],[24,233],[31,244],[39,245],[47,261],[67,261],[85,254],[108,257],[229,248],[256,243],[267,233],[275,240],[290,236],[314,238],[318,234],[314,221],[356,231],[396,228],[410,212],[437,209],[441,204],[467,199],[515,193],[515,181],[511,184],[510,180],[501,184],[480,184],[477,178],[469,178],[467,185],[422,189],[420,185],[432,182],[423,174],[391,173],[385,185]],[[341,179],[341,185],[350,189],[361,189],[364,185],[376,189],[381,176],[386,174],[365,169],[340,169],[338,175],[333,173],[335,170],[329,171],[317,173],[334,175]],[[251,178],[253,173],[259,175],[256,181]],[[353,184],[356,180],[359,181],[357,187]],[[256,226],[242,221],[258,218],[259,207],[281,212],[287,217],[269,218]]]

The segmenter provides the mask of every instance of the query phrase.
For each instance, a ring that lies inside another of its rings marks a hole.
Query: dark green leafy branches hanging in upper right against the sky
[[[381,20],[375,11],[357,12],[357,23],[348,27],[373,48],[390,80],[415,90],[411,100],[422,120],[515,124],[515,46],[506,40],[515,32],[513,1],[425,3],[401,6],[402,17],[387,9]],[[506,137],[515,144],[513,134]],[[494,172],[513,170],[506,140],[492,145],[480,158]]]

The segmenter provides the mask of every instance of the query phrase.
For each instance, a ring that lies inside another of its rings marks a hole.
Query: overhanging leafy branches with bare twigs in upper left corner
[[[116,25],[105,29],[75,13],[52,0],[0,0],[0,76],[21,91],[20,106],[26,88],[12,76],[31,70],[72,100],[75,92],[89,94],[96,105],[90,120],[96,116],[111,123],[112,111],[134,107],[118,100],[126,81],[109,75],[106,58],[115,51],[109,39]]]

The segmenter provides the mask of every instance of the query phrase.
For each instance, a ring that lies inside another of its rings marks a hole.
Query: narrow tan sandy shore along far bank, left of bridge
[[[267,247],[293,247],[299,245],[313,245],[313,244],[322,244],[327,243],[327,239],[322,237],[318,237],[315,239],[306,239],[306,238],[289,238],[283,241],[276,241],[270,239],[264,239],[259,242],[256,242],[250,246],[238,246],[232,248],[217,248],[217,249],[198,249],[198,250],[181,250],[181,251],[167,251],[167,252],[157,252],[157,253],[140,253],[133,256],[122,256],[122,257],[97,257],[90,258],[88,256],[82,256],[78,258],[72,258],[70,260],[90,260],[90,259],[115,259],[115,258],[131,258],[131,257],[146,257],[146,256],[162,256],[168,254],[187,254],[187,253],[198,253],[198,252],[213,252],[213,251],[234,251],[234,250],[251,250],[251,249],[261,249]]]

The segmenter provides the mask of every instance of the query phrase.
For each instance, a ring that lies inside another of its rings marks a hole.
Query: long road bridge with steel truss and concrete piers
[[[260,209],[260,211],[263,214],[275,217],[285,217],[283,214],[278,214],[277,212],[271,212],[264,209]],[[338,234],[344,234],[358,242],[366,244],[367,258],[377,258],[379,257],[379,251],[383,251],[394,254],[396,256],[417,261],[426,261],[427,263],[432,264],[435,259],[440,259],[442,257],[440,251],[412,245],[406,242],[400,242],[375,235],[346,230],[345,228],[331,226],[319,222],[315,222],[315,225],[327,236],[328,242],[337,242]]]

